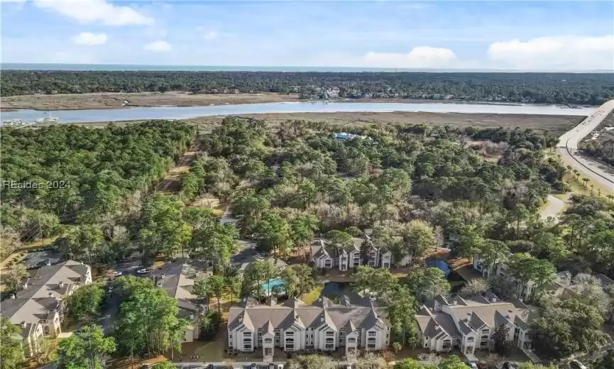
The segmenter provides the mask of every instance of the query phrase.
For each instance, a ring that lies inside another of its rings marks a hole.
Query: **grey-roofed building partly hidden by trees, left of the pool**
[[[151,278],[156,287],[168,292],[170,297],[177,299],[179,307],[179,317],[187,319],[190,324],[187,326],[184,342],[197,341],[199,338],[200,318],[207,313],[207,303],[204,299],[199,299],[192,293],[194,282],[202,280],[211,272],[202,272],[206,268],[204,263],[175,261],[165,263],[160,269],[152,270]]]

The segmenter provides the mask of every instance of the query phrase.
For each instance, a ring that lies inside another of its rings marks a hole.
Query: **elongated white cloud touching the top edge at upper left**
[[[40,8],[73,18],[79,23],[100,22],[107,26],[145,26],[153,18],[129,6],[115,5],[106,0],[34,0]]]

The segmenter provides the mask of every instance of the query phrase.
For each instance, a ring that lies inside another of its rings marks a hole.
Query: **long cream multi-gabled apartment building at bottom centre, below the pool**
[[[269,297],[266,304],[243,299],[231,307],[228,346],[242,352],[262,351],[272,361],[275,348],[286,352],[341,350],[354,358],[359,350],[378,351],[390,344],[390,326],[385,308],[368,298],[353,303],[339,297],[334,304],[321,297],[308,305],[295,297],[282,304]]]

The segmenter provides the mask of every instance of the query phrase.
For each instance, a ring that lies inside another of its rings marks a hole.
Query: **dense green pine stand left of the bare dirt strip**
[[[192,126],[167,121],[102,129],[2,128],[3,236],[28,242],[50,236],[60,224],[94,223],[130,211],[194,133]]]

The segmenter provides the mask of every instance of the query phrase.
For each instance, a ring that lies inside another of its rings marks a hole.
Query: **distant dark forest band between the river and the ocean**
[[[3,70],[1,96],[86,92],[278,92],[305,98],[409,98],[599,105],[612,73],[160,72]]]

